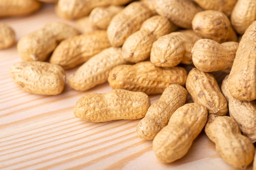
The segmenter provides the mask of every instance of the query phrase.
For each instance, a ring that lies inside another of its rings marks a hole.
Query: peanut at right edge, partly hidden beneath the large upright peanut
[[[233,118],[243,135],[249,137],[252,143],[256,142],[256,100],[247,102],[233,98],[228,90],[228,75],[223,79],[221,85],[222,94],[229,104],[229,116]]]

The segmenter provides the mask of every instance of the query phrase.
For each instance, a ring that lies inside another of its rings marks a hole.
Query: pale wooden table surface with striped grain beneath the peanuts
[[[65,21],[45,4],[33,15],[0,19],[23,35],[51,21]],[[16,44],[0,51],[0,169],[88,170],[234,170],[217,155],[215,145],[202,132],[189,152],[173,163],[160,163],[152,141],[137,137],[139,120],[94,123],[73,115],[76,101],[87,93],[111,90],[108,83],[86,92],[76,92],[66,83],[57,96],[23,92],[11,80],[9,68],[21,61]],[[75,69],[66,72],[67,75]],[[215,74],[219,82],[224,77]],[[150,96],[151,103],[159,95]],[[250,165],[247,170],[252,170]]]

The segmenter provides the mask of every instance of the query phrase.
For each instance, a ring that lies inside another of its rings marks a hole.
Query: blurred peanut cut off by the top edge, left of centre
[[[132,0],[58,0],[56,13],[65,19],[76,19],[88,15],[96,7],[123,5]]]

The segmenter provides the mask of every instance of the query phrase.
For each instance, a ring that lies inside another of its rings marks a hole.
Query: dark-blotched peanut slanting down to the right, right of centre
[[[192,68],[186,79],[186,89],[193,102],[205,106],[209,114],[227,115],[227,100],[212,74]]]

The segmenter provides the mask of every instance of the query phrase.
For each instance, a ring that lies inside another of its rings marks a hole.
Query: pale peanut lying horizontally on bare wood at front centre
[[[144,117],[149,106],[149,97],[143,92],[113,89],[82,96],[74,106],[74,115],[91,122],[134,120]]]

